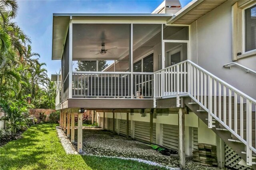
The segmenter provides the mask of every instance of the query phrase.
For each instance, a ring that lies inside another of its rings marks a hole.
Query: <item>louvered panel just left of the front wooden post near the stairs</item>
[[[163,124],[163,146],[166,148],[178,150],[179,148],[179,129],[176,125]]]

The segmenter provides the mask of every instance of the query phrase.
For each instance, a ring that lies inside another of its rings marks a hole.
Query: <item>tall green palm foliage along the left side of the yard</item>
[[[30,38],[13,22],[17,14],[16,0],[0,0],[0,99],[53,109],[56,86],[32,51]]]

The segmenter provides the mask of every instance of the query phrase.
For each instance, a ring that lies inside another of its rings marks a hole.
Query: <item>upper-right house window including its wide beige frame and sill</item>
[[[232,6],[232,59],[256,56],[256,3],[238,1]]]

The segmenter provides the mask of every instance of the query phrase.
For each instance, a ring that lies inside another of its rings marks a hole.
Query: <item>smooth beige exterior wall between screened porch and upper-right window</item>
[[[236,66],[231,70],[223,67],[232,62],[231,7],[235,2],[227,1],[191,24],[191,60],[256,99],[255,74],[246,74]],[[236,62],[256,70],[256,56]]]

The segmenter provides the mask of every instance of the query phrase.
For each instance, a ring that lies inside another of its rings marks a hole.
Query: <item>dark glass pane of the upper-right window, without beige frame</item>
[[[246,9],[245,14],[245,52],[256,49],[256,5]]]

